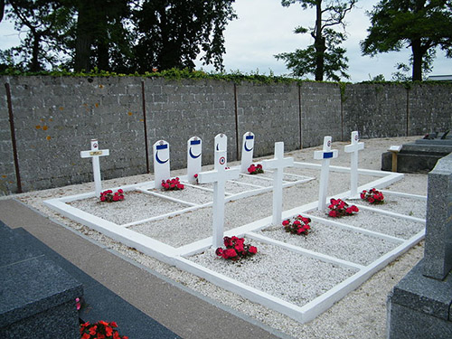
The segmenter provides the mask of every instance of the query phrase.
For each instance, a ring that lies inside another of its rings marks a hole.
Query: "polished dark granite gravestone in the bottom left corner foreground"
[[[79,339],[81,284],[0,221],[0,338]]]

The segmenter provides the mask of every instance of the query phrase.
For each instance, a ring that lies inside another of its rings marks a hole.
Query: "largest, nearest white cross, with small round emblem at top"
[[[213,171],[198,174],[200,184],[213,183],[213,221],[212,221],[212,245],[219,248],[223,245],[224,228],[224,186],[227,180],[237,179],[240,175],[239,169],[226,170],[226,151],[216,151],[215,169]]]

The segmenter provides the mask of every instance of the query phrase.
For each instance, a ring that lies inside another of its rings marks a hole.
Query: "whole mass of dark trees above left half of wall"
[[[1,0],[0,0],[1,1]],[[58,67],[133,73],[194,68],[222,70],[223,31],[234,0],[9,0],[7,14],[24,42],[0,55],[0,69]]]

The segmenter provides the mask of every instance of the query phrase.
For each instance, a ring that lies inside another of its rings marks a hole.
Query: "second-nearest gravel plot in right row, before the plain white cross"
[[[268,238],[367,266],[400,243],[312,221],[308,235],[290,234],[279,225],[258,231]]]

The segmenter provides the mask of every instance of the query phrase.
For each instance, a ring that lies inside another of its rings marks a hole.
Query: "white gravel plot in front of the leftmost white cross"
[[[187,207],[187,205],[182,203],[171,202],[151,194],[136,191],[126,192],[124,196],[125,199],[121,202],[99,202],[97,198],[89,198],[68,202],[68,204],[104,220],[115,222],[118,225],[140,221]]]

